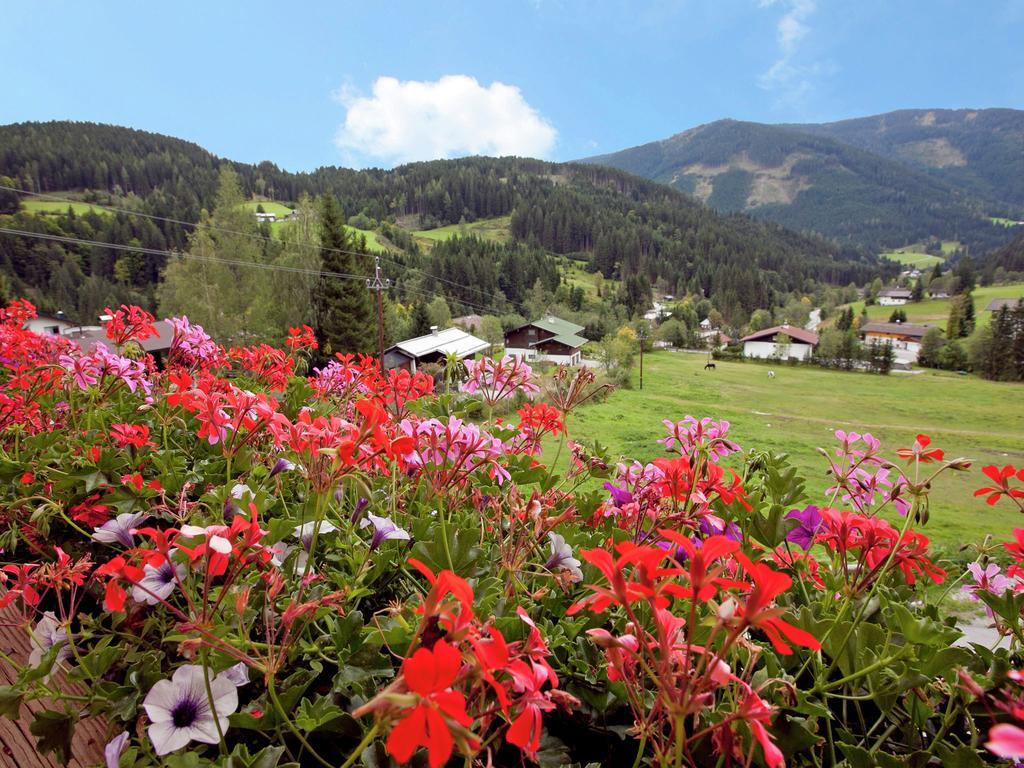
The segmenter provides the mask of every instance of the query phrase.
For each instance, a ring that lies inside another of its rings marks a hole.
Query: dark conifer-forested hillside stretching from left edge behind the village
[[[519,301],[531,286],[511,285],[500,267],[509,252],[529,249],[569,255],[609,279],[639,281],[641,293],[649,295],[657,284],[668,292],[714,297],[722,311],[737,313],[770,306],[808,282],[863,282],[879,269],[856,248],[721,215],[662,184],[587,165],[469,158],[391,171],[290,173],[272,163],[232,163],[196,144],[128,128],[68,122],[0,127],[0,176],[12,179],[10,185],[186,222],[199,221],[213,205],[224,165],[239,174],[247,196],[290,203],[305,195],[337,196],[346,217],[380,222],[394,246],[394,262],[435,274],[438,282],[427,288],[467,302]],[[122,212],[43,217],[26,210],[24,200],[0,226],[158,250],[184,247],[189,231]],[[510,216],[512,238],[489,246],[494,253],[467,238],[433,258],[402,236],[410,220],[430,227],[497,216]],[[536,256],[519,261],[535,265],[524,280],[540,279]],[[99,247],[0,237],[0,269],[16,289],[33,289],[44,305],[57,303],[55,294],[62,304],[75,299],[74,285],[95,294],[88,308],[101,295],[114,300],[127,293],[152,304],[162,268],[162,258],[152,254],[126,258]],[[401,276],[393,263],[388,268]]]

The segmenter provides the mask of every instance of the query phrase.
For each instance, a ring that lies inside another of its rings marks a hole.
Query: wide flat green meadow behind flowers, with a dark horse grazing
[[[985,484],[982,466],[1024,464],[1021,385],[938,372],[872,376],[756,362],[719,361],[705,372],[706,359],[685,352],[644,355],[643,391],[617,390],[582,408],[569,418],[570,437],[597,439],[615,456],[650,461],[664,455],[655,442],[665,435],[664,419],[726,419],[730,437],[743,449],[787,453],[807,480],[809,500],[820,504],[827,478],[817,449],[835,447],[836,429],[869,431],[890,456],[925,432],[947,457],[976,462],[970,472],[936,481],[925,534],[953,548],[986,534],[1009,539],[1015,526],[1024,526],[1024,515],[1006,502],[988,507],[972,496]],[[769,370],[775,378],[768,378]],[[634,374],[634,387],[636,379]]]

